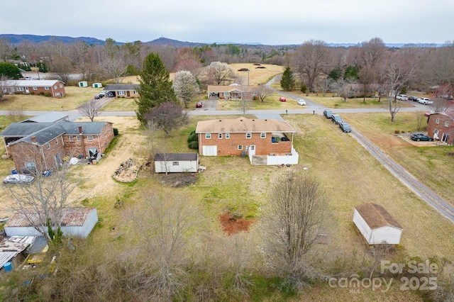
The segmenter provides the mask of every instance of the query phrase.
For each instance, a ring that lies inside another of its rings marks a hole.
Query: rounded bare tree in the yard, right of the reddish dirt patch
[[[300,289],[317,278],[310,253],[323,234],[328,199],[315,179],[289,169],[272,184],[262,216],[262,244],[268,263],[286,283]]]

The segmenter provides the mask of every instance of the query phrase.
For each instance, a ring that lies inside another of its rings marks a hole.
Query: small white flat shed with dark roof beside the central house
[[[197,153],[156,153],[155,172],[197,172],[199,155]]]

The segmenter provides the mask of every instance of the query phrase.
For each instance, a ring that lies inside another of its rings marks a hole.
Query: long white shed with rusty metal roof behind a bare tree
[[[28,217],[38,220],[38,215],[29,212]],[[94,225],[98,222],[98,213],[96,208],[64,208],[62,209],[62,226],[61,230],[66,237],[74,236],[87,238],[92,232]],[[43,223],[44,224],[44,223]],[[41,236],[26,219],[25,213],[15,213],[4,225],[7,236]]]

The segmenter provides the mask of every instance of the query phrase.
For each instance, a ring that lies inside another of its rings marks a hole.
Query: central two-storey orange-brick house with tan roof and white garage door
[[[295,132],[287,121],[260,118],[199,121],[196,127],[200,155],[248,154],[251,163],[252,156],[289,157],[297,154],[293,148]]]

